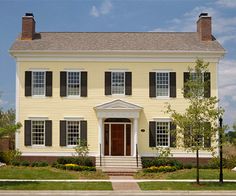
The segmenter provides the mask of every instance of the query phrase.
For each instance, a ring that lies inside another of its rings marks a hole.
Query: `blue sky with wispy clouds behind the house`
[[[236,0],[0,0],[0,107],[15,107],[15,61],[8,49],[33,12],[37,32],[196,31],[208,12],[213,35],[227,50],[219,64],[224,122],[236,121]]]

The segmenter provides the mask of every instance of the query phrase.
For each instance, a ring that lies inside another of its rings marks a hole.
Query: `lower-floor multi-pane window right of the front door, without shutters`
[[[169,146],[169,131],[170,123],[169,122],[157,122],[156,131],[157,131],[157,146]]]

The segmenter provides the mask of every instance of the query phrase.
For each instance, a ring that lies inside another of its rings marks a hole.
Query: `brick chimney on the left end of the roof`
[[[35,20],[33,13],[25,13],[22,17],[21,40],[33,40],[35,34]]]

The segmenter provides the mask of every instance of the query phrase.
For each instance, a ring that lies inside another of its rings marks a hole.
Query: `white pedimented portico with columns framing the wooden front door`
[[[136,156],[138,118],[142,107],[114,100],[94,108],[98,117],[99,154],[102,156]],[[106,119],[117,119],[107,122]],[[123,122],[119,119],[129,119]]]

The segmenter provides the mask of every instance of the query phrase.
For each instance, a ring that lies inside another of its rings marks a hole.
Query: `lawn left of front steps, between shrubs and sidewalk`
[[[108,179],[101,171],[76,172],[52,167],[0,167],[0,179]]]

